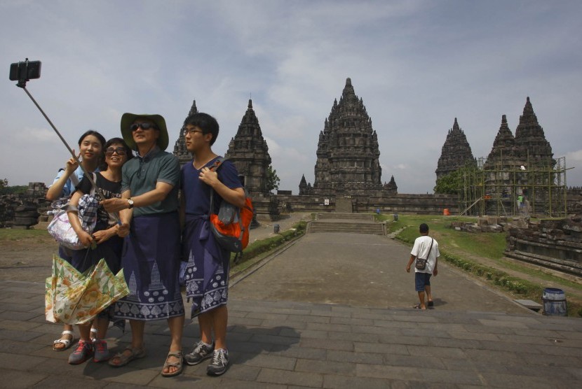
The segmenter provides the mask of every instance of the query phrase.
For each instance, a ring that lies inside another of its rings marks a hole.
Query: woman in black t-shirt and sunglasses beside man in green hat
[[[121,138],[109,139],[105,143],[105,163],[107,169],[95,173],[95,184],[100,188],[105,199],[121,197],[121,167],[130,158],[133,157],[131,149]],[[83,180],[77,185],[76,192],[71,198],[70,205],[76,208],[79,205],[79,199],[83,195],[92,192],[92,185],[89,179],[84,176]],[[95,196],[98,191],[95,190]],[[89,234],[81,227],[77,211],[67,211],[69,221],[79,240],[87,246],[83,250],[75,250],[72,258],[72,265],[81,273],[89,267],[97,264],[101,258],[107,262],[109,269],[116,274],[121,269],[121,250],[123,248],[123,238],[117,236],[119,225],[116,220],[111,218],[109,213],[100,205],[97,208],[97,224],[93,233]],[[97,337],[95,341],[90,339],[90,323],[79,325],[80,340],[75,351],[69,355],[69,363],[78,365],[85,362],[93,356],[95,362],[109,360],[109,351],[107,351],[107,342],[102,340],[107,334],[109,326],[109,308],[104,309],[98,316]]]

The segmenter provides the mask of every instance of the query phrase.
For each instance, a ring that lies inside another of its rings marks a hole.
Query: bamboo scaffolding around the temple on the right
[[[532,158],[533,160],[533,158]],[[553,161],[514,164],[496,158],[487,164],[459,170],[457,190],[461,215],[545,216],[567,215],[566,157]]]

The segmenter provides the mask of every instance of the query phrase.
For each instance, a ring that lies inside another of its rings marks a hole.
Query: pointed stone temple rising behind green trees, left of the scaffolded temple
[[[437,179],[456,171],[466,164],[477,166],[477,161],[473,157],[473,152],[465,133],[459,127],[459,122],[454,118],[453,128],[449,129],[447,139],[445,144],[442,145],[442,152],[438,159],[435,171]]]

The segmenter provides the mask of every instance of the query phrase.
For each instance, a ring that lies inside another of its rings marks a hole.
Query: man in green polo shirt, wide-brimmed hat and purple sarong
[[[108,212],[119,211],[119,235],[125,236],[121,265],[130,294],[116,302],[115,316],[130,320],[132,339],[126,350],[109,360],[109,365],[120,367],[143,358],[145,322],[165,318],[171,344],[162,376],[176,376],[182,372],[184,327],[178,282],[180,163],[164,151],[168,130],[161,115],[124,113],[121,134],[137,151],[137,158],[123,165],[121,199],[102,204]]]

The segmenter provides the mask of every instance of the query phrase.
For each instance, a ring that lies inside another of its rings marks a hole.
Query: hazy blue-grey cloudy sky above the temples
[[[67,150],[11,62],[42,61],[27,89],[76,146],[119,136],[124,112],[160,113],[170,147],[192,101],[221,126],[224,153],[248,99],[280,189],[313,183],[319,132],[351,78],[379,139],[382,181],[432,192],[458,118],[487,157],[530,97],[567,184],[582,185],[580,1],[0,0],[0,178],[50,184]]]

